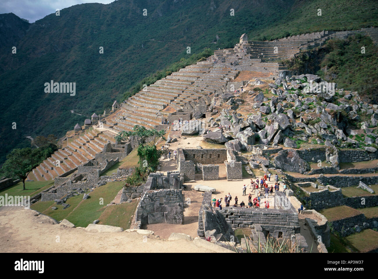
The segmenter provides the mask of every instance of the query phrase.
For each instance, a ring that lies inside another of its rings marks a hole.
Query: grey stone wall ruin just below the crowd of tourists
[[[275,199],[285,198],[283,193],[276,192]],[[258,240],[265,243],[268,236],[288,240],[291,247],[299,246],[308,252],[308,245],[299,233],[299,219],[296,209],[275,203],[275,208],[240,208],[225,207],[221,210],[211,206],[211,192],[203,194],[203,202],[198,212],[197,234],[201,238],[211,237],[215,241],[235,242],[234,229],[251,228],[251,240],[257,247]]]

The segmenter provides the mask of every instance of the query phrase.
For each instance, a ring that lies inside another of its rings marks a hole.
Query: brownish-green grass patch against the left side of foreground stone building
[[[121,203],[120,205],[108,206],[99,217],[99,224],[129,229],[136,206],[138,206],[136,200],[132,203]]]

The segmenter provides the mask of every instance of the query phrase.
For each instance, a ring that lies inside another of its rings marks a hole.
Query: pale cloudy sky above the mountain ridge
[[[82,3],[109,4],[115,0],[0,0],[0,14],[12,12],[30,23],[43,19],[56,9],[64,9]]]

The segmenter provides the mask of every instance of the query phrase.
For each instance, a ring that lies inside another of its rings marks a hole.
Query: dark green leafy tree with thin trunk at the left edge
[[[7,177],[20,178],[25,190],[25,180],[28,174],[44,160],[40,149],[13,149],[6,156],[6,161],[2,166],[2,172]]]

